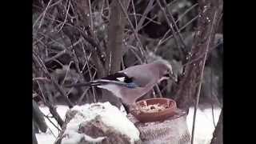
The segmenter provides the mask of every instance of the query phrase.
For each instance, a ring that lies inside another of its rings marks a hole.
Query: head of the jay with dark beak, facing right
[[[156,64],[159,70],[160,78],[158,82],[161,82],[162,80],[165,80],[165,79],[172,79],[174,80],[174,82],[177,82],[177,78],[174,75],[174,72],[169,62],[161,59],[161,60],[155,61],[154,64]]]

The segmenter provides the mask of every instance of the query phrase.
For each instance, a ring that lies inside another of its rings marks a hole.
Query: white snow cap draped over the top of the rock
[[[80,113],[68,123],[66,130],[76,130],[75,126],[82,122],[88,122],[100,115],[102,122],[106,126],[111,126],[115,130],[118,130],[121,134],[126,134],[130,137],[130,142],[134,143],[139,139],[139,131],[134,126],[134,123],[130,122],[128,118],[120,111],[116,106],[112,106],[110,102],[86,104],[83,106],[74,106],[72,110],[78,110]],[[78,129],[78,128],[77,128]]]

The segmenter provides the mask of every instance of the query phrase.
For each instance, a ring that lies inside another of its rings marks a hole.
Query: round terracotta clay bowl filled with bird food
[[[139,122],[164,121],[177,110],[176,102],[169,98],[150,98],[136,102],[136,109],[131,114]]]

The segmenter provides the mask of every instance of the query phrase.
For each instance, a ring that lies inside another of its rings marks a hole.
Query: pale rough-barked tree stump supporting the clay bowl
[[[186,112],[178,110],[174,116],[163,122],[138,122],[132,114],[128,118],[140,131],[143,144],[189,144],[190,132],[186,124]]]

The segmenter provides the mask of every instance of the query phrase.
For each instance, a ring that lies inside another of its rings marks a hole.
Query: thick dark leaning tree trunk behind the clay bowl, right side
[[[189,64],[184,68],[182,78],[178,82],[178,86],[175,90],[175,100],[178,107],[183,110],[189,110],[191,102],[193,102],[196,97],[207,42],[210,38],[210,47],[213,46],[214,34],[218,28],[218,18],[220,18],[222,13],[222,0],[200,0],[198,4],[198,28],[195,32],[191,52],[186,56]],[[216,15],[215,19],[217,19],[217,21],[214,21],[214,14]]]

